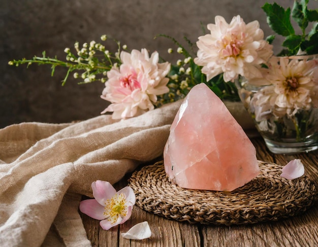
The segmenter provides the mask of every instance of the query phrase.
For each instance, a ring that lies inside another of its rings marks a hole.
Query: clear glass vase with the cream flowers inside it
[[[276,57],[264,68],[264,79],[240,77],[235,82],[244,107],[272,153],[318,149],[318,60],[312,62],[314,58]]]

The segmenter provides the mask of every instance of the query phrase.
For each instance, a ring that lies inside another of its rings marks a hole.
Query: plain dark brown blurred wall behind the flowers
[[[65,59],[63,50],[108,34],[130,49],[157,50],[166,59],[174,47],[165,33],[182,41],[193,42],[206,26],[221,15],[228,22],[241,15],[245,22],[259,20],[265,36],[272,34],[261,9],[265,0],[0,0],[0,128],[10,124],[39,121],[50,123],[84,120],[98,116],[107,106],[100,98],[104,85],[95,82],[77,85],[70,76],[61,86],[66,69],[50,66],[26,68],[9,66],[12,59],[48,56]],[[273,1],[268,1],[272,3]],[[284,7],[292,0],[277,0]],[[311,6],[318,5],[312,1]],[[317,6],[316,6],[317,8]],[[109,43],[108,43],[109,44]],[[116,49],[115,46],[108,47]],[[175,58],[174,58],[175,59]]]

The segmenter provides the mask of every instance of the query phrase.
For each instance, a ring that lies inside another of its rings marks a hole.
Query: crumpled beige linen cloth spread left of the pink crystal
[[[180,103],[122,121],[103,115],[0,129],[0,246],[90,246],[81,195],[92,197],[93,181],[114,184],[160,156]]]

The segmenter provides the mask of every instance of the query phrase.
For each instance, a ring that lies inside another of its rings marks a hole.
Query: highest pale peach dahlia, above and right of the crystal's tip
[[[230,24],[221,16],[208,24],[210,34],[199,37],[195,63],[203,66],[202,73],[209,81],[224,73],[224,81],[234,81],[238,75],[261,77],[259,65],[273,54],[272,46],[264,40],[258,21],[245,24],[238,15]]]

